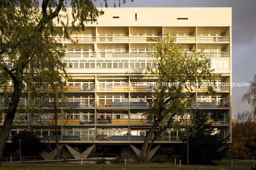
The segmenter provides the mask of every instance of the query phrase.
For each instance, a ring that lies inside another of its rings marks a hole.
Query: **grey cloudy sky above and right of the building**
[[[122,0],[121,0],[122,1]],[[103,0],[95,1],[97,7]],[[115,0],[108,0],[113,7]],[[118,6],[118,0],[116,0]],[[232,7],[232,49],[233,82],[250,82],[256,74],[256,0],[126,0],[121,7]],[[232,91],[232,114],[238,111],[251,111],[242,102],[249,87],[234,87]]]

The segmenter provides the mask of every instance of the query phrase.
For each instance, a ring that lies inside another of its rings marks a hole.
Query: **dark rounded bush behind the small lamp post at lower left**
[[[21,156],[38,156],[42,152],[41,139],[34,132],[23,130],[15,134],[11,144],[16,149],[20,149],[19,140],[21,140]]]

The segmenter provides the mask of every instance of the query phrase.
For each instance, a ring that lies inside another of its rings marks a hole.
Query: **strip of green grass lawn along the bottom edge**
[[[0,170],[186,170],[186,168],[168,167],[79,167],[79,166],[23,166],[2,165]],[[217,170],[208,168],[190,168],[190,170]],[[223,169],[222,169],[223,170]]]

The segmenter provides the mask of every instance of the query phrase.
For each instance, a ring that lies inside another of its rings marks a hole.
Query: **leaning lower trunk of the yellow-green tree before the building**
[[[140,160],[143,161],[143,162],[147,162],[148,161],[148,154],[147,154],[147,150],[148,150],[148,147],[149,147],[149,142],[150,142],[150,139],[152,137],[152,135],[154,134],[155,130],[157,129],[158,127],[158,123],[156,121],[154,121],[153,125],[151,126],[145,140],[144,140],[144,143],[143,143],[143,146],[142,146],[142,149],[141,149],[141,152],[140,152]]]

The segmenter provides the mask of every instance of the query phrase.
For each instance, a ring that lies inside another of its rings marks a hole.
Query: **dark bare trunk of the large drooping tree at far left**
[[[4,123],[2,126],[2,130],[0,132],[0,165],[3,156],[3,151],[5,148],[5,144],[8,140],[8,137],[11,132],[12,123],[15,117],[15,113],[19,104],[20,96],[21,96],[21,85],[19,82],[14,82],[14,90],[11,96],[11,101],[6,112],[6,117],[4,119]]]

